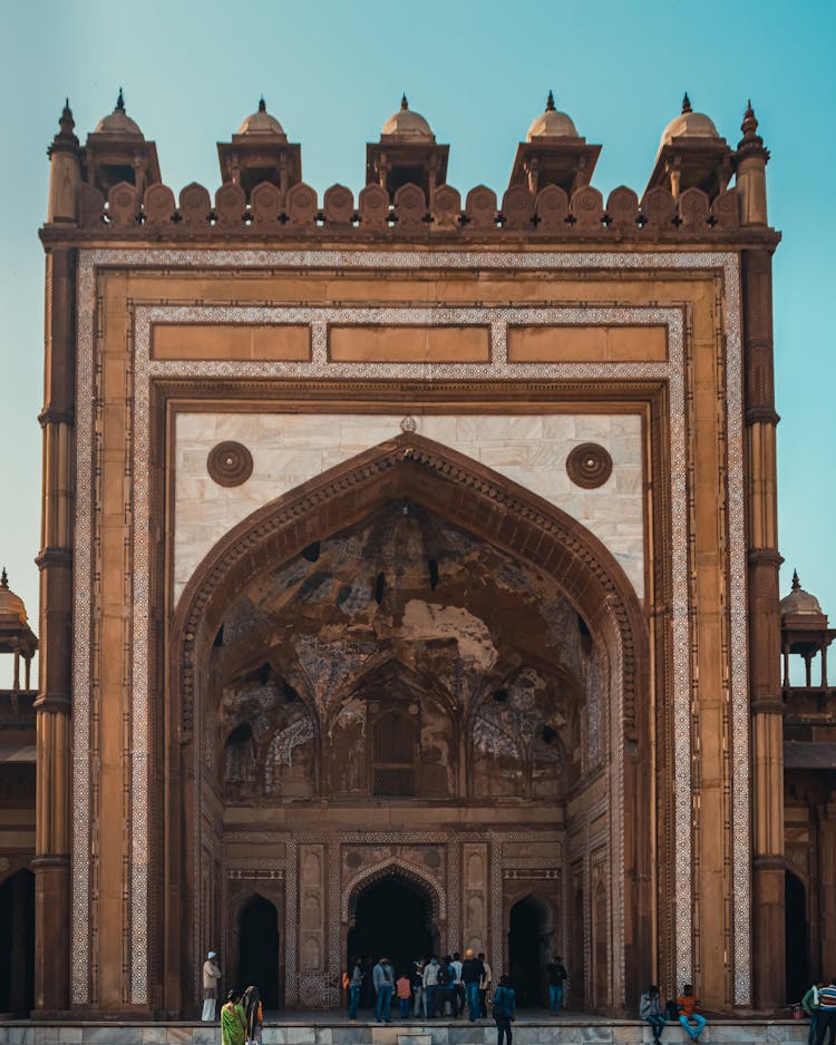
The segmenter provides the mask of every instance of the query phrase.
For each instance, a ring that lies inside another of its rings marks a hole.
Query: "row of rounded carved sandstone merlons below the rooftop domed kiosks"
[[[524,186],[514,185],[503,196],[499,208],[496,193],[479,185],[467,194],[463,211],[461,197],[450,185],[436,188],[429,207],[424,189],[417,185],[399,188],[393,204],[386,189],[367,185],[357,206],[351,189],[333,185],[320,207],[317,193],[304,183],[294,185],[282,198],[275,185],[264,182],[253,189],[249,203],[241,186],[227,183],[215,193],[213,206],[208,192],[195,183],[187,185],[175,203],[167,185],[152,185],[139,201],[135,187],[123,182],[110,189],[107,204],[97,189],[84,184],[80,224],[120,232],[178,225],[184,232],[249,228],[272,233],[285,227],[378,232],[393,227],[399,233],[503,228],[577,234],[605,228],[736,228],[738,211],[735,189],[720,193],[711,203],[699,188],[689,188],[674,199],[667,189],[657,187],[640,204],[631,188],[621,186],[610,193],[604,207],[603,196],[591,185],[576,189],[571,198],[557,185],[547,186],[536,197]]]

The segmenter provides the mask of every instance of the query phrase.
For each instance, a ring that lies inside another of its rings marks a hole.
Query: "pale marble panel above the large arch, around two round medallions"
[[[402,414],[179,413],[175,447],[174,597],[212,546],[256,508],[313,476],[400,434]],[[480,461],[586,526],[644,594],[641,418],[638,414],[463,414],[416,417],[421,436]],[[253,456],[253,473],[223,487],[206,471],[226,439]],[[576,486],[566,457],[597,442],[613,471],[597,489]]]

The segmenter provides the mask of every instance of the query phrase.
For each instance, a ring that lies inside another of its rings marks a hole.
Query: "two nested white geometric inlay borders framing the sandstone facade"
[[[747,668],[747,603],[746,603],[746,541],[743,531],[743,455],[742,455],[742,371],[740,339],[740,291],[738,262],[732,253],[725,252],[497,252],[468,251],[179,251],[157,248],[134,250],[81,250],[78,268],[78,355],[77,355],[77,501],[75,516],[75,593],[74,624],[74,840],[72,840],[72,1004],[84,1005],[90,1000],[90,844],[89,819],[91,797],[90,761],[90,703],[89,703],[89,639],[91,628],[90,589],[93,580],[94,541],[94,403],[96,374],[96,273],[99,266],[161,266],[182,265],[213,267],[357,267],[357,268],[692,268],[717,270],[723,276],[726,295],[727,339],[727,417],[728,417],[728,505],[729,505],[729,580],[730,580],[730,660],[731,660],[731,726],[732,739],[732,789],[733,789],[733,976],[735,1000],[738,1005],[750,1000],[750,872],[749,872],[749,799],[748,799],[748,668]],[[231,361],[198,362],[191,367],[174,361],[152,361],[148,358],[147,332],[150,323],[166,319],[169,322],[201,322],[207,310],[189,306],[139,306],[136,310],[135,346],[135,433],[134,453],[138,458],[140,437],[148,437],[147,403],[145,417],[140,399],[147,397],[152,377],[217,375],[243,377],[366,377],[369,370],[378,379],[402,378],[526,378],[551,380],[584,377],[618,379],[623,377],[660,377],[664,371],[671,391],[671,494],[673,534],[673,589],[672,606],[674,648],[674,720],[678,736],[675,761],[677,838],[680,848],[677,857],[677,976],[688,979],[691,967],[691,881],[690,881],[690,719],[688,695],[690,671],[688,665],[688,577],[687,577],[687,522],[678,521],[678,510],[687,499],[687,461],[684,443],[684,402],[682,382],[682,318],[675,309],[610,309],[586,306],[583,309],[543,310],[558,312],[563,322],[575,323],[664,323],[668,326],[670,360],[667,364],[514,364],[507,361],[505,331],[513,316],[517,322],[528,322],[526,310],[487,307],[475,310],[480,321],[487,321],[492,332],[490,364],[331,364],[327,359],[327,322],[324,316],[311,322],[313,358],[310,363],[236,363]],[[245,322],[244,312],[257,312],[235,306],[210,310],[218,319],[225,313],[225,322]],[[297,310],[288,309],[292,313]],[[388,310],[378,310],[386,312]],[[460,310],[410,309],[404,310],[409,319],[404,322],[427,324],[449,322]],[[176,318],[174,313],[176,312]],[[574,319],[568,314],[573,313]],[[626,313],[641,313],[641,319],[624,319]],[[522,316],[522,319],[521,319]],[[621,316],[621,319],[619,319]],[[380,318],[378,322],[387,322]],[[143,332],[145,336],[143,336]],[[675,380],[674,380],[675,379]],[[143,430],[145,426],[145,431]],[[147,460],[147,457],[145,458]],[[135,471],[138,479],[142,469]],[[148,533],[143,531],[143,519],[148,518],[149,491],[138,489],[135,482],[134,512],[134,624],[147,613],[148,606]],[[679,508],[678,508],[679,506]],[[679,534],[677,533],[679,528]],[[144,575],[137,567],[145,566]],[[683,597],[684,594],[684,597]],[[146,617],[147,621],[147,617]],[[147,664],[143,671],[143,657],[147,652],[147,624],[139,624],[139,634],[134,635],[134,663],[132,680],[133,735],[132,735],[132,881],[130,881],[130,944],[132,944],[132,1002],[143,1005],[148,1000],[148,830],[149,814],[147,781],[149,771]],[[678,641],[679,638],[679,641]],[[684,642],[681,639],[684,638]],[[678,651],[684,651],[684,655]],[[684,674],[684,677],[683,677]],[[684,682],[684,687],[682,683]],[[684,719],[680,719],[684,699]],[[679,729],[684,723],[684,731]],[[615,943],[615,941],[613,941]]]

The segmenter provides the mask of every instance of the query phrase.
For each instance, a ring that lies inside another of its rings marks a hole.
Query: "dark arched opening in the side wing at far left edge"
[[[35,875],[18,871],[0,886],[0,1013],[35,1008]]]

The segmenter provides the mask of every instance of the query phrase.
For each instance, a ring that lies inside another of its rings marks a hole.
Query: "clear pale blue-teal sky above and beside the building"
[[[406,90],[465,192],[507,184],[550,88],[589,141],[594,184],[640,194],[683,90],[733,146],[746,99],[772,152],[781,589],[794,567],[836,622],[836,300],[833,0],[736,3],[304,3],[3,0],[0,162],[0,564],[37,631],[46,148],[69,96],[84,140],[114,107],[157,143],[163,179],[220,182],[215,143],[256,107],[302,144],[320,194],[359,191],[364,145]],[[0,680],[3,674],[0,672]]]

